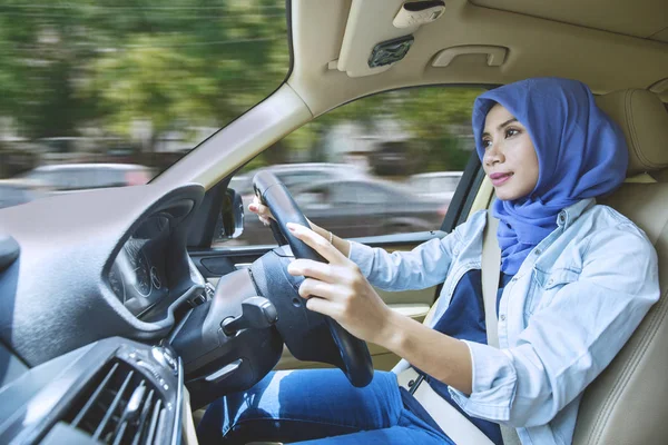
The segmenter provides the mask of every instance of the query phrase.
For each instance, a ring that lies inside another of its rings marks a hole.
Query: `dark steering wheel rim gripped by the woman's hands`
[[[285,245],[287,243],[295,258],[306,258],[326,263],[317,251],[293,236],[285,227],[287,222],[301,224],[304,227],[311,226],[283,182],[281,182],[272,172],[259,171],[253,178],[253,189],[261,202],[266,205],[272,210],[274,218],[276,218],[275,221],[271,221],[271,225],[278,245]],[[293,301],[294,303],[291,303],[287,307],[298,306],[298,299],[295,300],[293,298]],[[295,310],[295,307],[291,307],[291,310]],[[302,316],[307,316],[307,324],[314,325],[324,322],[328,326],[332,340],[338,348],[341,355],[341,363],[336,363],[336,365],[344,372],[351,384],[356,387],[369,385],[373,378],[373,364],[366,343],[350,334],[331,317],[308,310],[305,305],[301,305],[299,310],[303,312],[301,314]],[[278,315],[281,316],[281,313]],[[284,337],[286,335],[284,334]],[[287,338],[286,344],[289,348],[291,344]],[[295,355],[296,358],[299,358],[294,352],[293,355]]]

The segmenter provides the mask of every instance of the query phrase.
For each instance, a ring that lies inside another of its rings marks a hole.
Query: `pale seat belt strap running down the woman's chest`
[[[488,334],[488,345],[499,348],[499,320],[497,319],[497,294],[499,291],[499,278],[501,276],[501,249],[497,240],[499,220],[492,216],[491,210],[487,214],[487,225],[482,237],[482,298],[484,301],[484,323]],[[514,428],[499,425],[503,445],[520,445],[520,437]]]

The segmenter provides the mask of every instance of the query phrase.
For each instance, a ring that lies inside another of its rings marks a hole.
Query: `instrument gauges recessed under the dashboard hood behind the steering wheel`
[[[169,235],[168,215],[149,217],[124,244],[107,276],[114,294],[137,317],[169,295],[165,265]]]

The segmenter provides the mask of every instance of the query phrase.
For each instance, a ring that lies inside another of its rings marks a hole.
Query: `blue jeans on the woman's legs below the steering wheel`
[[[376,372],[369,386],[355,388],[338,369],[269,373],[247,392],[214,402],[197,436],[203,445],[453,444],[404,407],[394,374]]]

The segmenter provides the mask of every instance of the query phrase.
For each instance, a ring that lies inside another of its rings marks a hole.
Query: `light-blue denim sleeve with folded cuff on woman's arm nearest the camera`
[[[635,226],[601,230],[583,247],[577,281],[533,313],[508,349],[466,343],[470,415],[514,427],[549,423],[615,358],[659,298],[657,255]]]

